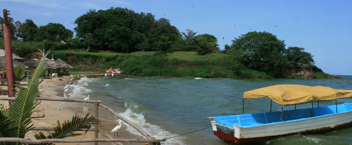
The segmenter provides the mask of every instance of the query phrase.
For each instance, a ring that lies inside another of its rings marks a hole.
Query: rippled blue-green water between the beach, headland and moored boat
[[[163,139],[210,127],[211,123],[207,117],[241,114],[242,95],[245,91],[278,84],[320,85],[352,90],[352,76],[340,77],[343,79],[195,79],[134,76],[82,78],[74,93],[69,95],[86,97],[89,94],[91,99],[102,100],[104,105],[139,124],[151,136]],[[338,100],[338,104],[343,102],[352,102],[352,99]],[[333,104],[334,101],[320,103]],[[279,107],[273,103],[273,110],[278,110]],[[285,109],[293,109],[292,107],[294,106]],[[311,104],[297,106],[307,107],[311,107]],[[266,112],[269,109],[268,98],[245,100],[245,113]],[[139,134],[132,127],[127,130]],[[212,128],[168,139],[163,144],[226,145],[213,135]],[[347,145],[352,144],[352,128],[318,135],[296,134],[260,144]]]

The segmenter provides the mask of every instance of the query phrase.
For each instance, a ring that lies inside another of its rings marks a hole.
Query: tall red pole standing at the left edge
[[[4,13],[4,24],[1,24],[4,30],[4,45],[5,45],[5,60],[6,60],[6,78],[7,78],[7,90],[8,97],[15,97],[15,87],[13,80],[13,61],[12,61],[12,44],[11,44],[11,30],[10,25],[8,24],[7,15],[8,12],[6,9],[2,10]],[[13,104],[13,100],[9,101],[10,107]]]

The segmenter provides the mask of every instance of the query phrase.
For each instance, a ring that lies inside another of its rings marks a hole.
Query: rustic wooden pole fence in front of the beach
[[[15,97],[0,97],[0,100],[14,100]],[[117,145],[122,145],[120,142],[124,143],[149,143],[150,145],[157,145],[160,144],[161,139],[155,139],[154,137],[150,136],[148,133],[146,133],[142,128],[139,126],[133,124],[130,120],[127,120],[126,118],[120,116],[117,114],[114,110],[111,108],[101,104],[100,100],[76,100],[76,99],[70,99],[70,98],[42,98],[38,97],[36,100],[46,100],[46,101],[65,101],[65,102],[78,102],[78,103],[94,103],[94,108],[95,108],[95,117],[99,117],[99,106],[102,108],[105,108],[114,116],[117,118],[121,119],[128,125],[132,126],[136,130],[138,130],[144,137],[147,139],[120,139],[120,138],[113,138],[109,134],[106,134],[102,130],[99,129],[98,124],[95,124],[94,129],[89,129],[88,131],[94,131],[94,138],[87,138],[87,139],[37,139],[37,140],[29,140],[29,139],[24,139],[24,138],[0,138],[0,143],[2,142],[18,142],[18,143],[23,143],[23,144],[42,144],[42,143],[88,143],[88,142],[95,142],[95,145],[98,145],[99,142],[113,142]],[[53,131],[54,127],[35,127],[33,130],[36,131]],[[98,138],[98,133],[100,133],[102,136],[105,136],[107,138]]]

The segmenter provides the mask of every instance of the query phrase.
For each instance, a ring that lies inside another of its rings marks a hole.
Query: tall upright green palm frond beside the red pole
[[[24,138],[26,132],[33,128],[30,116],[32,115],[34,108],[40,103],[38,101],[35,101],[35,99],[39,95],[38,85],[42,82],[42,80],[40,80],[40,76],[45,71],[45,58],[46,55],[48,55],[49,53],[44,53],[44,51],[40,52],[40,54],[42,55],[42,59],[40,60],[38,67],[34,71],[32,79],[30,80],[27,77],[27,88],[15,85],[19,88],[19,91],[16,94],[16,99],[12,108],[10,108],[10,119],[14,120],[15,124],[18,127],[18,138]]]

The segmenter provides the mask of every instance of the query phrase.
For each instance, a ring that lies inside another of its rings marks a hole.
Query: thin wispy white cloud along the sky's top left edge
[[[65,6],[59,5],[58,0],[0,0],[0,1],[21,2],[21,3],[25,3],[33,6],[66,8]]]

